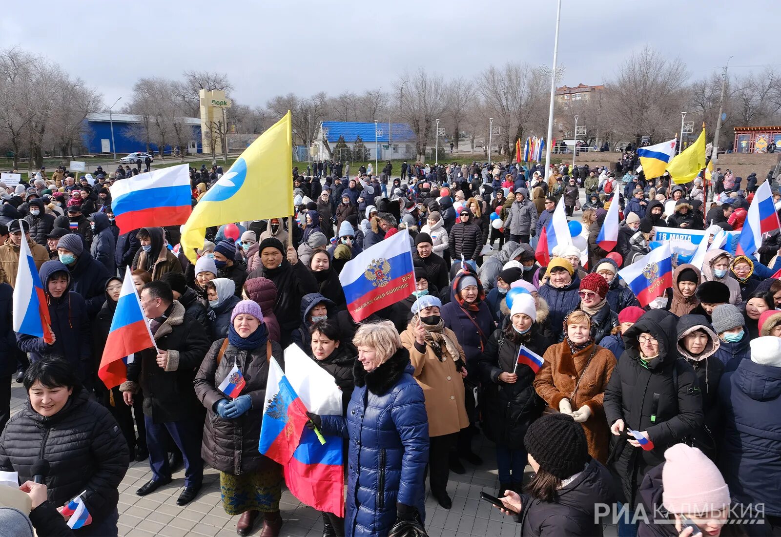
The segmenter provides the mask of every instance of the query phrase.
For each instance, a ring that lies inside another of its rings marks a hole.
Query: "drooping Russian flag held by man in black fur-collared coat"
[[[155,340],[144,320],[141,301],[138,299],[136,286],[130,276],[130,267],[127,267],[98,368],[98,377],[105,387],[111,389],[125,382],[127,380],[125,358],[149,347],[155,347]]]

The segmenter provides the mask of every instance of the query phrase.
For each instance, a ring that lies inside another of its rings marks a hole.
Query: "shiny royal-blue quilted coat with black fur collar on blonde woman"
[[[323,415],[322,432],[349,439],[344,534],[388,535],[397,502],[425,520],[429,423],[423,389],[401,348],[367,373],[355,361],[347,417]]]

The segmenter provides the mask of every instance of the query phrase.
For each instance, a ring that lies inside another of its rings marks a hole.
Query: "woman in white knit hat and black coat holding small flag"
[[[509,322],[494,330],[480,357],[483,382],[483,432],[496,444],[499,494],[522,490],[526,468],[523,437],[532,421],[540,416],[543,401],[534,391],[536,372],[519,364],[521,347],[542,356],[551,341],[537,324],[537,304],[523,293],[512,301]]]

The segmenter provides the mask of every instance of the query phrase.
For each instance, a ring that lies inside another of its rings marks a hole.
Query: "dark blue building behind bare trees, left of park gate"
[[[191,139],[187,141],[187,147],[181,148],[181,151],[187,151],[188,154],[201,152],[201,119],[182,118],[184,123],[191,126]],[[135,114],[89,114],[84,120],[86,124],[85,133],[82,135],[84,147],[90,155],[99,155],[101,153],[116,153],[117,156],[127,155],[134,151],[146,151],[146,144],[136,140],[133,137],[133,126],[141,124],[141,116]],[[112,147],[112,129],[114,131],[114,147]],[[159,153],[160,148],[156,144],[150,144],[155,154]],[[166,145],[163,148],[165,155],[170,155],[175,148]]]

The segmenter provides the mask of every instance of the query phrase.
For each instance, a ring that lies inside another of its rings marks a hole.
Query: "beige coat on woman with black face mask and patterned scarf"
[[[451,329],[445,328],[444,335],[452,338],[458,345],[458,339]],[[444,361],[426,345],[426,353],[415,349],[415,329],[412,323],[401,333],[401,344],[409,351],[409,359],[415,372],[412,376],[423,388],[426,396],[426,414],[429,416],[429,436],[449,435],[469,427],[469,417],[464,404],[464,379],[455,368],[452,357]],[[461,349],[461,346],[458,346]]]

